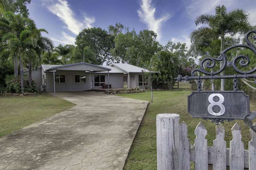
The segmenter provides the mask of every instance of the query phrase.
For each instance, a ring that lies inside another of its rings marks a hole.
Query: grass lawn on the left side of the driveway
[[[65,111],[74,105],[47,94],[0,97],[0,136]]]

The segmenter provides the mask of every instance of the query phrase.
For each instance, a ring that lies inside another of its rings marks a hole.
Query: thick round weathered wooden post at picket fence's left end
[[[180,115],[156,116],[157,170],[180,169]]]

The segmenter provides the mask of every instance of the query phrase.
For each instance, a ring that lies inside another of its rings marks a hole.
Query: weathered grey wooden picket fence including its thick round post
[[[195,129],[195,144],[190,145],[187,137],[187,125],[180,124],[177,114],[157,115],[157,169],[190,170],[190,162],[195,170],[207,170],[212,164],[213,170],[256,170],[256,133],[250,130],[252,140],[248,150],[244,150],[241,129],[237,123],[232,127],[230,149],[226,148],[225,130],[222,124],[216,126],[216,139],[213,147],[207,146],[207,130],[202,122]]]

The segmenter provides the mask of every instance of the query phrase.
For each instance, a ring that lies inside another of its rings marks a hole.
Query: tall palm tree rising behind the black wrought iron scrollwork
[[[200,27],[190,33],[191,43],[196,49],[200,49],[200,46],[205,44],[205,40],[220,37],[221,51],[223,51],[225,35],[234,35],[237,33],[244,35],[253,28],[249,23],[249,14],[246,11],[236,9],[227,12],[227,8],[224,5],[216,6],[215,15],[203,14],[198,16],[195,23],[196,25],[208,25],[207,27]],[[222,67],[223,61],[220,62],[219,65]],[[224,71],[221,75],[223,74]],[[221,90],[225,90],[225,79],[221,79]]]

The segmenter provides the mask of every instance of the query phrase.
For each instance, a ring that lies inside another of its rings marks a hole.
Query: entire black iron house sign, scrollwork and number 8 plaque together
[[[179,75],[178,81],[196,81],[197,91],[192,91],[188,96],[188,113],[194,118],[209,119],[218,124],[234,119],[241,119],[256,132],[256,126],[252,125],[252,120],[256,118],[256,112],[250,111],[249,97],[238,90],[238,79],[255,79],[256,67],[247,67],[247,71],[242,69],[250,64],[250,58],[246,55],[237,55],[232,60],[227,61],[226,53],[234,48],[251,50],[256,57],[256,47],[252,43],[256,40],[256,30],[245,34],[246,44],[234,45],[223,50],[218,57],[206,57],[200,62],[200,68],[193,69],[191,76],[182,77]],[[256,41],[255,41],[256,42]],[[216,62],[222,63],[221,68]],[[217,66],[217,69],[214,69]],[[234,75],[220,75],[226,67],[232,67],[236,72]],[[252,69],[253,68],[253,69]],[[251,69],[251,70],[250,70]],[[217,70],[217,71],[214,71]],[[197,73],[197,74],[196,74]],[[202,80],[233,79],[232,91],[202,91]],[[252,82],[252,80],[249,80]]]

